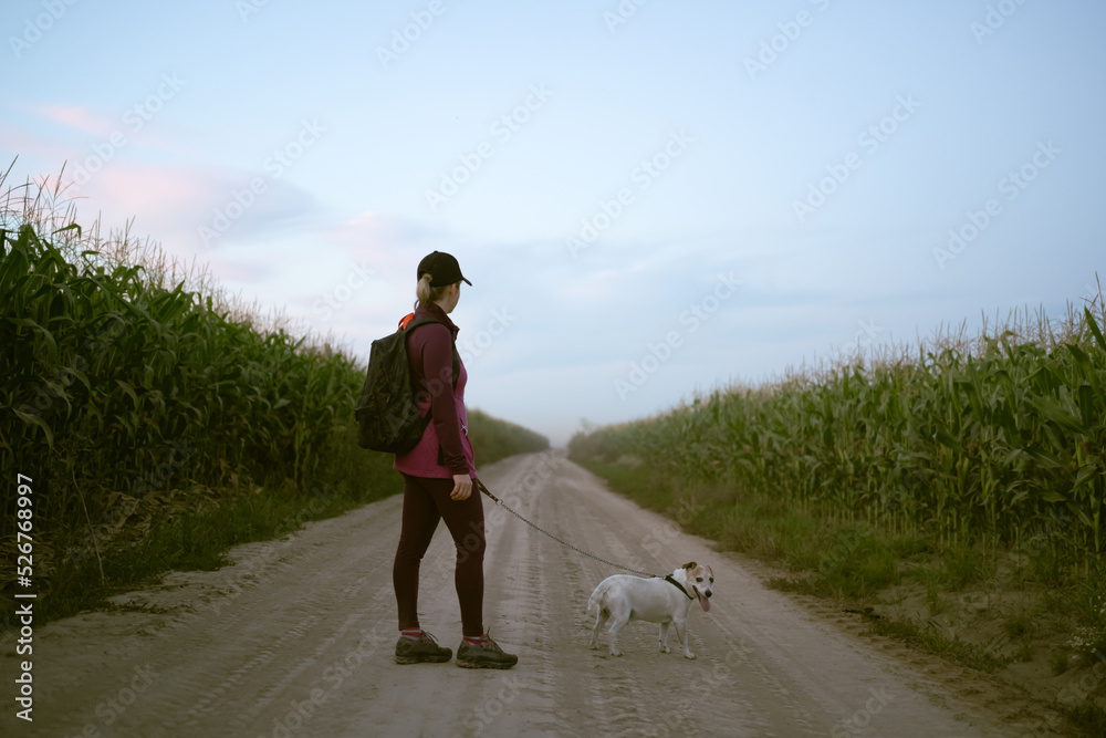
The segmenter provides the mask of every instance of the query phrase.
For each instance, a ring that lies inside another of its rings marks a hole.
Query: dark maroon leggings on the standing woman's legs
[[[438,527],[446,521],[457,547],[453,582],[461,604],[461,634],[483,634],[483,505],[472,486],[467,500],[451,500],[452,479],[404,475],[404,526],[392,569],[399,605],[399,630],[418,627],[418,569]]]

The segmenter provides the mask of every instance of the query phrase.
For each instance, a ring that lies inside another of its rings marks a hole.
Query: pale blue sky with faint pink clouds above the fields
[[[563,445],[1106,276],[1106,6],[7,0],[0,165]]]

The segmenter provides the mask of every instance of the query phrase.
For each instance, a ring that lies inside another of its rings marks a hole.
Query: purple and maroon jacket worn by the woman
[[[419,325],[407,336],[407,360],[411,366],[413,383],[420,391],[419,413],[426,417],[427,409],[430,409],[430,423],[426,426],[422,440],[406,454],[397,454],[392,466],[413,477],[452,479],[453,475],[468,474],[476,479],[477,467],[468,438],[468,413],[465,410],[468,372],[459,356],[456,391],[452,384],[453,342],[460,329],[437,304],[419,305],[415,318],[422,315],[432,315],[445,323]]]

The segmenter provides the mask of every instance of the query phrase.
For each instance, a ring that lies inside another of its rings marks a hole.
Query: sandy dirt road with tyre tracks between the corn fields
[[[514,457],[483,479],[522,514],[605,558],[657,572],[710,563],[711,611],[690,615],[698,659],[659,653],[657,626],[640,622],[623,631],[625,656],[588,651],[587,596],[618,572],[486,499],[486,626],[519,665],[396,665],[397,497],[241,547],[219,572],[171,574],[122,597],[122,612],[38,628],[34,723],[15,720],[6,694],[0,735],[959,738],[1026,735],[1033,721],[981,707],[987,690],[950,683],[951,667],[904,661],[901,648],[884,651],[764,589],[738,559],[568,461]],[[456,651],[452,558],[439,527],[419,611]],[[9,692],[12,651],[9,642],[0,657]]]

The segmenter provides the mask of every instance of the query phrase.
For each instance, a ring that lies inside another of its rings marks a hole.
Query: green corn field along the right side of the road
[[[1084,573],[1106,547],[1099,295],[580,434],[573,456],[644,460],[658,482],[784,497],[942,544],[1047,550]]]

